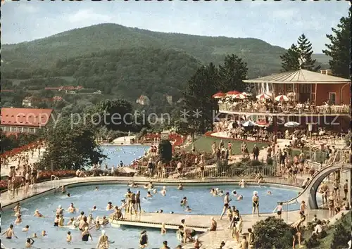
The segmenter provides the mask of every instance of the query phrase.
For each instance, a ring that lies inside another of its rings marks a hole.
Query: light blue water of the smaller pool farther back
[[[103,160],[101,163],[103,165],[107,164],[108,168],[111,168],[112,165],[120,165],[120,161],[123,162],[123,165],[130,165],[130,163],[140,158],[144,155],[145,151],[149,150],[150,146],[101,146],[101,150],[104,155],[108,158]]]

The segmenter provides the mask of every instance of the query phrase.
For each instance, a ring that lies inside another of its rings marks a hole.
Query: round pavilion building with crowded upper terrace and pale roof
[[[213,97],[220,98],[220,113],[242,117],[244,120],[250,117],[261,125],[273,125],[275,132],[278,123],[284,125],[285,122],[297,122],[300,125],[313,123],[315,130],[326,127],[346,132],[351,121],[351,80],[329,74],[328,70],[319,73],[300,69],[244,80],[254,85],[257,98],[263,96],[271,102],[270,108],[268,104],[256,101],[256,97],[251,98],[251,101],[246,96],[242,96],[242,100],[233,101],[229,94],[226,97],[226,94],[221,93]],[[339,125],[332,125],[332,122]]]

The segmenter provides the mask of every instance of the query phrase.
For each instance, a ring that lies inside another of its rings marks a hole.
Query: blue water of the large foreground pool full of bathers
[[[67,209],[70,203],[75,203],[75,206],[80,210],[89,214],[89,210],[94,205],[97,206],[97,211],[94,212],[94,217],[108,215],[109,211],[106,211],[106,205],[111,201],[114,205],[120,205],[120,200],[124,197],[127,186],[122,185],[100,185],[99,191],[95,191],[95,187],[99,185],[91,186],[80,186],[72,189],[68,189],[71,197],[62,195],[61,193],[52,194],[49,196],[42,196],[37,200],[32,200],[24,203],[23,210],[23,224],[15,225],[15,234],[19,237],[11,241],[3,240],[6,247],[18,248],[24,246],[25,238],[36,232],[40,234],[42,230],[46,230],[48,236],[44,238],[34,239],[35,247],[37,248],[94,248],[98,237],[100,236],[99,231],[92,231],[93,242],[89,241],[87,244],[80,239],[80,232],[76,230],[69,230],[65,228],[58,228],[53,226],[54,222],[54,210],[58,205],[62,205],[64,209]],[[180,200],[186,196],[189,200],[189,206],[193,210],[187,215],[220,215],[222,210],[222,197],[211,196],[209,191],[212,186],[199,186],[199,187],[185,187],[183,191],[178,191],[175,186],[166,187],[166,196],[161,196],[157,193],[153,198],[147,200],[142,199],[142,210],[146,212],[156,212],[156,210],[162,209],[164,212],[175,212],[184,213],[184,209],[180,206]],[[260,196],[260,212],[272,212],[275,208],[277,201],[289,200],[297,195],[298,191],[273,188],[268,186],[249,186],[245,189],[239,189],[238,186],[213,186],[214,188],[219,187],[224,191],[232,192],[237,189],[237,193],[244,196],[243,200],[237,201],[232,200],[231,205],[235,205],[236,208],[242,214],[248,214],[251,212],[251,196],[253,191],[258,191]],[[160,191],[162,186],[156,186]],[[142,188],[135,188],[132,191],[140,190],[142,197],[146,196],[146,190]],[[272,191],[272,195],[268,195],[268,191]],[[290,209],[296,209],[296,205],[290,205]],[[45,218],[33,217],[34,210],[38,209]],[[2,228],[3,231],[13,224],[15,217],[11,216],[13,212],[6,211],[2,217]],[[68,222],[68,217],[72,215],[65,214],[65,223]],[[77,215],[76,215],[77,216]],[[30,232],[25,233],[22,231],[25,225],[30,226]],[[138,248],[139,233],[142,228],[133,228],[121,226],[120,228],[114,228],[107,226],[107,235],[111,241],[115,241],[112,248]],[[92,229],[94,230],[94,229]],[[175,248],[180,241],[177,240],[175,231],[168,230],[168,233],[161,235],[159,229],[146,229],[149,235],[149,248],[160,248],[163,241],[168,241],[171,248]],[[68,231],[73,234],[73,244],[67,245],[65,243],[65,236]],[[49,246],[50,245],[50,246]],[[54,246],[55,245],[55,246]]]

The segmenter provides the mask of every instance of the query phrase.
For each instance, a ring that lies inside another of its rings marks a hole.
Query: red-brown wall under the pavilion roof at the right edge
[[[329,93],[336,93],[336,104],[346,104],[350,103],[350,87],[345,84],[318,84],[317,87],[317,99],[315,105],[322,105],[325,101],[329,99]],[[342,87],[344,87],[342,89]],[[342,94],[341,94],[342,89]],[[342,97],[342,98],[341,98]]]

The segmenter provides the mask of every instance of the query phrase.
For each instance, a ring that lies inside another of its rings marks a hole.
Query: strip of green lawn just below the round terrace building
[[[194,141],[194,146],[196,147],[196,151],[199,151],[199,152],[205,151],[208,153],[212,153],[213,151],[211,149],[211,146],[213,145],[213,142],[215,141],[215,143],[219,145],[220,140],[221,139],[212,137],[212,136],[201,136],[199,139]],[[233,139],[222,139],[222,141],[224,141],[225,146],[227,146],[228,142],[232,143],[232,155],[241,155],[242,141],[233,140]],[[263,147],[266,148],[268,146],[268,143],[256,143],[252,141],[246,141],[246,143],[248,146],[249,153],[251,153],[251,151],[253,150],[254,144],[256,144],[260,150],[263,149]],[[187,151],[191,151],[192,145],[193,143],[191,143],[185,149]]]

